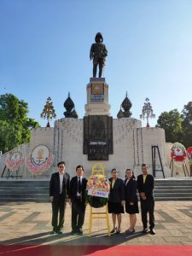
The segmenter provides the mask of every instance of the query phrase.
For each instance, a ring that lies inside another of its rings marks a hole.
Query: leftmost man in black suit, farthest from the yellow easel
[[[70,185],[70,176],[66,172],[65,162],[59,162],[57,167],[58,172],[52,174],[49,183],[49,197],[52,203],[52,234],[62,234]],[[60,212],[59,224],[58,212]]]

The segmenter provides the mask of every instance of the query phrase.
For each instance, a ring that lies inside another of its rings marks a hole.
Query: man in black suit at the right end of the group
[[[137,188],[140,195],[143,233],[148,232],[148,215],[150,234],[154,235],[154,177],[148,174],[148,166],[142,165],[143,174],[137,177]]]

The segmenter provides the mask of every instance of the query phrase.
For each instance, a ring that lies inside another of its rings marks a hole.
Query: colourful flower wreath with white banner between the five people
[[[91,175],[87,183],[86,191],[86,200],[90,204],[90,207],[104,207],[108,203],[110,182],[108,178],[102,174]]]

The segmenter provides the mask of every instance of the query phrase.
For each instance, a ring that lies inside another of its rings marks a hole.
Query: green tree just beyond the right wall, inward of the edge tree
[[[163,128],[166,132],[167,143],[183,143],[182,139],[182,122],[180,113],[177,109],[160,114],[156,127]]]

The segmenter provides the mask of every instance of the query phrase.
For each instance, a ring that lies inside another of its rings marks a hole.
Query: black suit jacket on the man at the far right
[[[139,175],[137,177],[137,189],[139,193],[144,192],[147,198],[153,198],[154,176],[148,174],[145,183],[143,183],[143,174]]]

